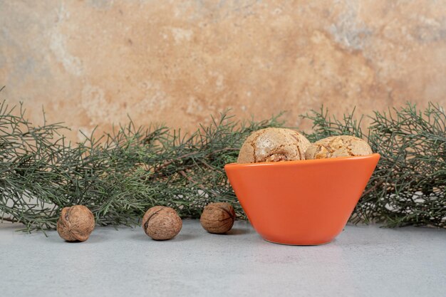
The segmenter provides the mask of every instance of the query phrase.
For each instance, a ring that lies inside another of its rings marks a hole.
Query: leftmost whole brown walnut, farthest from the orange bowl
[[[57,232],[66,241],[85,241],[95,228],[95,217],[83,205],[63,207]]]

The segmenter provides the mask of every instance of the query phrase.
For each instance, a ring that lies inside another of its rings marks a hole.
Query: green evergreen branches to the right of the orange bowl
[[[313,132],[307,135],[311,141],[355,135],[381,155],[351,222],[446,227],[446,115],[440,105],[429,103],[420,111],[408,103],[385,113],[375,111],[367,133],[354,110],[342,120],[323,108],[303,118],[313,121]]]

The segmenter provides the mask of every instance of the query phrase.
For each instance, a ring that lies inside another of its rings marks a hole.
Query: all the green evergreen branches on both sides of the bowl
[[[192,134],[164,126],[137,127],[130,120],[95,138],[72,144],[67,128],[34,126],[22,106],[0,106],[0,222],[21,222],[26,231],[54,229],[63,207],[83,204],[100,225],[134,225],[154,205],[198,218],[209,202],[230,202],[246,219],[223,167],[235,162],[254,130],[281,127],[280,115],[263,121],[235,120],[227,113]],[[311,141],[329,135],[368,138],[382,155],[353,222],[388,226],[446,226],[445,112],[414,105],[373,115],[368,133],[353,113],[343,120],[326,110],[313,121]]]

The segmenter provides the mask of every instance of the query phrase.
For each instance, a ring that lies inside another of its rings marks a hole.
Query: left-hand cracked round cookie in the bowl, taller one
[[[240,148],[238,163],[304,160],[310,142],[299,132],[284,128],[266,128],[247,137]]]

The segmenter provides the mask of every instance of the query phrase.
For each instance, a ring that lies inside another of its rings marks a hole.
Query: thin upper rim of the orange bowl
[[[333,163],[333,162],[343,162],[346,160],[363,160],[363,159],[373,159],[376,157],[380,157],[380,154],[374,152],[370,155],[363,156],[347,156],[347,157],[336,157],[336,158],[327,158],[327,159],[313,159],[313,160],[294,160],[294,161],[283,161],[283,162],[259,162],[259,163],[228,163],[224,165],[224,168],[234,168],[234,167],[261,167],[261,166],[276,166],[276,167],[286,167],[293,165],[310,165],[310,164],[319,164],[319,163]]]

